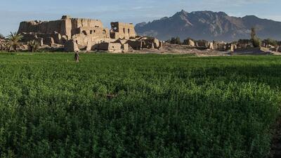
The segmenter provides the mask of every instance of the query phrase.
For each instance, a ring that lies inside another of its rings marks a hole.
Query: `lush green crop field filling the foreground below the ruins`
[[[266,158],[281,57],[0,54],[0,157]]]

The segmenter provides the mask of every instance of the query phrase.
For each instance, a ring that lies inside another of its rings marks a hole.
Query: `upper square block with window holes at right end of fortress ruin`
[[[132,23],[111,22],[110,37],[112,39],[133,39],[136,38],[135,27]]]

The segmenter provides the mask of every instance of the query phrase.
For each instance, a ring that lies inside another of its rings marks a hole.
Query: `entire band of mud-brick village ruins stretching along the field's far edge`
[[[182,42],[176,37],[159,41],[155,37],[138,36],[132,23],[111,22],[110,25],[111,28],[108,29],[103,26],[101,20],[71,18],[63,15],[60,20],[20,22],[18,32],[15,34],[21,36],[18,46],[20,51],[30,51],[30,44],[36,43],[40,50],[65,52],[214,54],[239,51],[281,52],[281,43],[270,39],[263,40],[259,46],[254,46],[253,38],[230,43],[190,38]],[[260,39],[258,41],[261,42]],[[0,37],[0,50],[17,51],[16,49],[11,46],[8,39]]]

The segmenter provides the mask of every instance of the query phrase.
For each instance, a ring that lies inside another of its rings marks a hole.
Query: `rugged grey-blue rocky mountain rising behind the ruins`
[[[256,34],[261,39],[281,40],[281,22],[257,18],[247,15],[237,18],[223,12],[181,11],[171,17],[152,22],[141,22],[136,25],[136,32],[145,36],[153,36],[162,40],[171,37],[186,39],[207,39],[235,41],[249,39],[251,27],[256,27]]]

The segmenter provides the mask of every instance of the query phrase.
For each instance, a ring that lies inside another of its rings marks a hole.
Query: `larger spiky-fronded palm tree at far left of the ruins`
[[[22,35],[18,34],[17,32],[11,32],[8,36],[8,44],[6,49],[8,51],[17,51],[18,46],[20,46],[19,41],[22,39]]]

